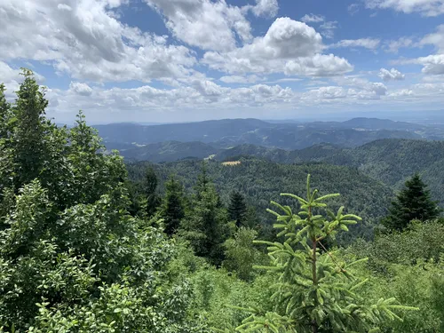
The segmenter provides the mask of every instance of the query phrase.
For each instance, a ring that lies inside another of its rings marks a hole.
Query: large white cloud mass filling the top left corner
[[[119,0],[67,0],[61,5],[59,0],[4,0],[0,59],[51,61],[60,73],[97,82],[149,82],[188,75],[195,63],[193,53],[116,20],[110,11],[120,4]]]

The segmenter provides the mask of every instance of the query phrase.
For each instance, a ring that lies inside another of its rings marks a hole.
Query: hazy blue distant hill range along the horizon
[[[108,147],[115,144],[148,145],[164,141],[200,141],[212,147],[239,145],[302,149],[327,142],[357,147],[376,139],[444,139],[444,129],[415,123],[373,118],[346,122],[266,123],[258,119],[224,119],[199,123],[147,126],[114,123],[95,126]]]

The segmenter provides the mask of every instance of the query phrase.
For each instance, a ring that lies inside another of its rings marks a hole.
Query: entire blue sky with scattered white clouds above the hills
[[[444,109],[444,0],[0,0],[8,99],[20,67],[62,123],[420,116]]]

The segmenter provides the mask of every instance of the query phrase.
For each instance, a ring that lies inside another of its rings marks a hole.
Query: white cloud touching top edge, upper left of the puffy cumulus
[[[163,14],[165,25],[173,36],[203,50],[228,51],[236,46],[236,35],[242,41],[251,38],[250,22],[241,7],[225,0],[145,0]],[[260,1],[258,13],[273,1]],[[254,11],[254,8],[253,8]]]

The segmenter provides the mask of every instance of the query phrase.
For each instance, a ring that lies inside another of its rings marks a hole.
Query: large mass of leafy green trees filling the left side
[[[169,271],[175,243],[128,213],[122,158],[82,113],[69,131],[50,123],[24,75],[11,108],[0,89],[0,330],[208,331]]]

